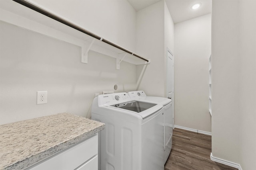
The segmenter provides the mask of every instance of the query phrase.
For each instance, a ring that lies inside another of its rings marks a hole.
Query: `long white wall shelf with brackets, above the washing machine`
[[[150,63],[150,60],[86,30],[32,0],[1,0],[0,21],[80,46],[82,63],[88,63],[90,50],[116,58],[116,69],[120,68],[122,61],[136,65]]]

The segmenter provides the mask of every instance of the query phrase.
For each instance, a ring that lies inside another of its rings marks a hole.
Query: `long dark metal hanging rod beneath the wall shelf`
[[[140,55],[132,53],[131,51],[129,51],[127,49],[124,49],[123,47],[120,47],[120,46],[118,46],[118,45],[116,45],[116,44],[114,44],[114,43],[112,43],[112,42],[110,42],[110,41],[108,41],[106,39],[103,39],[102,37],[100,37],[100,36],[90,32],[90,31],[88,31],[88,30],[86,30],[86,29],[84,29],[82,27],[79,27],[78,25],[76,25],[76,24],[74,24],[74,23],[72,23],[70,21],[67,21],[67,20],[65,20],[63,18],[60,18],[59,16],[56,16],[55,14],[52,14],[51,12],[48,12],[48,11],[44,10],[43,8],[40,8],[40,7],[34,5],[34,4],[32,4],[32,3],[30,3],[30,2],[28,2],[26,0],[13,0],[13,1],[18,2],[19,4],[22,4],[22,5],[30,8],[30,9],[32,9],[34,11],[37,11],[37,12],[39,12],[39,13],[45,15],[45,16],[48,16],[49,18],[52,18],[52,19],[54,19],[56,21],[59,21],[59,22],[65,24],[65,25],[68,25],[69,27],[72,27],[72,28],[74,28],[74,29],[76,29],[76,30],[78,30],[78,31],[80,31],[82,33],[90,35],[91,37],[94,37],[94,38],[96,38],[96,39],[98,39],[100,41],[103,41],[104,43],[107,43],[107,44],[109,44],[109,45],[111,45],[113,47],[116,47],[116,48],[118,48],[118,49],[120,49],[122,51],[125,51],[126,53],[129,53],[129,54],[131,54],[131,55],[133,55],[135,57],[138,57],[138,58],[148,62],[147,59],[144,59]]]

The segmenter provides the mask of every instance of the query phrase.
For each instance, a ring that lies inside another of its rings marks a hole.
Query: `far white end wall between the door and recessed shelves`
[[[211,132],[211,14],[176,23],[174,32],[174,124]]]

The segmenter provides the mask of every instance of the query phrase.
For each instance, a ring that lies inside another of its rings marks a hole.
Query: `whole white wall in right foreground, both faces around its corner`
[[[212,154],[256,169],[256,2],[212,1]]]

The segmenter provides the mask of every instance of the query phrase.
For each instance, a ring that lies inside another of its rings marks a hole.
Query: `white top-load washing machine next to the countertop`
[[[162,105],[102,94],[94,98],[92,119],[106,126],[99,135],[100,170],[164,170]]]

